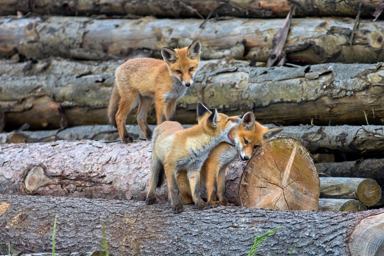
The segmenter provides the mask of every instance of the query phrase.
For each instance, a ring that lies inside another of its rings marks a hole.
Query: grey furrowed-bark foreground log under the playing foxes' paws
[[[351,255],[348,245],[355,227],[367,217],[382,223],[384,210],[361,212],[276,211],[219,207],[204,211],[186,206],[172,214],[169,203],[0,196],[0,239],[17,251],[50,251],[57,215],[56,252],[100,247],[102,226],[109,250],[116,255],[244,255],[256,234],[285,226],[265,240],[263,255]],[[365,226],[367,228],[367,226]],[[360,230],[361,231],[361,230]],[[376,233],[382,236],[383,232]],[[377,250],[377,241],[363,236]],[[372,243],[373,242],[373,243]]]

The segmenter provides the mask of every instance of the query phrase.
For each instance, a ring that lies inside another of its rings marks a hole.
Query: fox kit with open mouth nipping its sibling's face
[[[152,174],[146,204],[155,203],[156,187],[161,186],[165,174],[173,212],[181,212],[183,206],[176,177],[180,170],[186,170],[193,201],[199,209],[206,207],[200,197],[200,169],[209,152],[220,142],[234,143],[228,133],[240,122],[240,117],[229,117],[217,110],[211,113],[201,103],[198,104],[198,117],[199,123],[187,129],[173,121],[163,122],[156,127],[152,141]]]

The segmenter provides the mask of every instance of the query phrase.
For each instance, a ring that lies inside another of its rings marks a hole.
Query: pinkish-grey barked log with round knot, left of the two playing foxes
[[[144,200],[151,175],[150,144],[2,144],[0,193]],[[157,196],[167,199],[165,185],[158,189]]]

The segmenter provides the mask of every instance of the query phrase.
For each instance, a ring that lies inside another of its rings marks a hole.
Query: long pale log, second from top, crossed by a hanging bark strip
[[[27,58],[160,58],[162,46],[184,47],[199,38],[203,59],[255,56],[266,62],[273,36],[283,23],[284,19],[232,18],[208,20],[201,27],[201,19],[4,17],[0,18],[0,56],[11,55],[16,49]],[[288,62],[384,61],[384,22],[360,20],[357,31],[354,25],[352,18],[292,19],[284,47]]]

